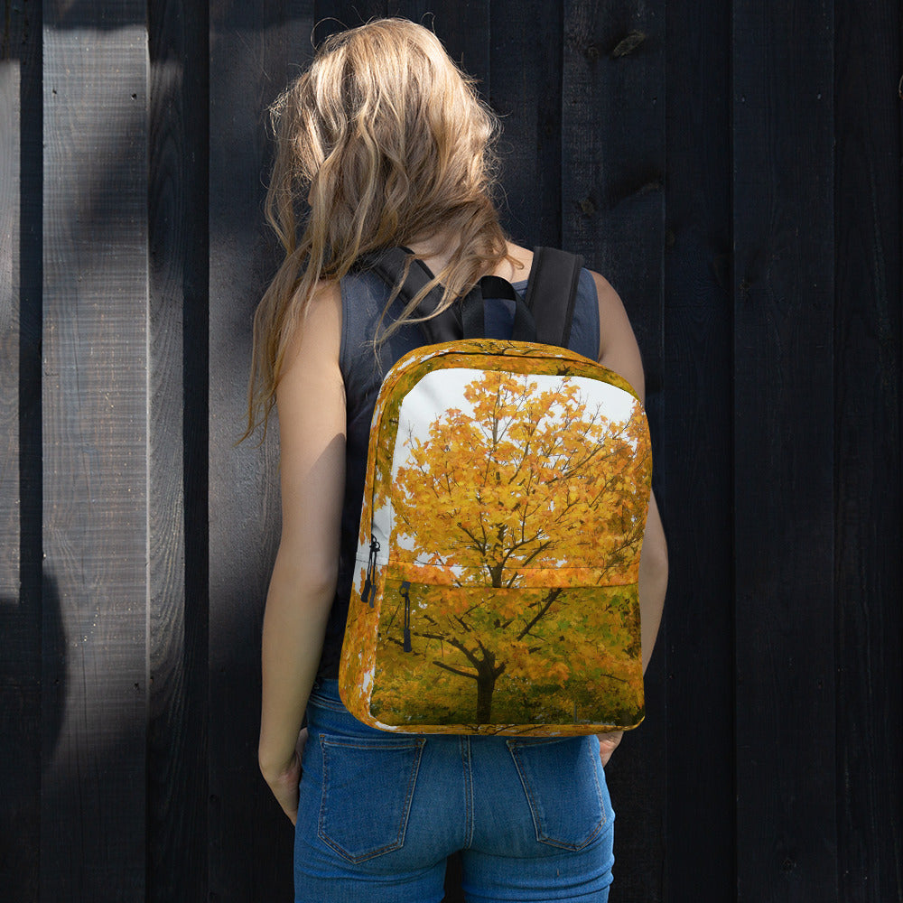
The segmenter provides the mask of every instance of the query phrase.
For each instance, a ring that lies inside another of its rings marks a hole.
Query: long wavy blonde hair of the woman
[[[270,115],[276,154],[265,210],[285,257],[254,319],[242,438],[266,425],[286,346],[321,279],[340,279],[370,251],[460,237],[401,318],[385,329],[380,321],[378,343],[414,321],[433,285],[444,286],[443,310],[507,257],[492,200],[498,120],[422,25],[380,19],[332,35]]]

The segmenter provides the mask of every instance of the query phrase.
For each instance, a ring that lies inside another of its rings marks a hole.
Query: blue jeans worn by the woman
[[[595,737],[393,734],[334,680],[307,710],[296,903],[439,903],[461,851],[470,903],[605,903],[614,813]]]

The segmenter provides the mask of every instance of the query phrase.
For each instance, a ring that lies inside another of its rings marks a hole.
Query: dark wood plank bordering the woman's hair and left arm
[[[310,3],[210,5],[209,794],[211,898],[290,899],[292,825],[257,769],[260,625],[279,527],[275,424],[244,429],[251,317],[275,273],[265,107],[311,52]]]

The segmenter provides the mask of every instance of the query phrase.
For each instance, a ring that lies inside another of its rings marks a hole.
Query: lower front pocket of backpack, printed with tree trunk
[[[436,570],[433,582],[383,582],[369,702],[377,721],[586,733],[641,720],[636,584],[499,589]]]

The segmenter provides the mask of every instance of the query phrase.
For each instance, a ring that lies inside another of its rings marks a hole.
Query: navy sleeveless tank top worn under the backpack
[[[526,280],[514,283],[523,295]],[[321,677],[339,676],[341,643],[348,618],[355,554],[358,551],[360,507],[364,498],[370,421],[379,386],[388,368],[408,351],[426,344],[416,324],[405,325],[374,351],[373,337],[380,325],[390,291],[374,273],[352,273],[341,281],[341,346],[339,365],[345,383],[345,500],[341,513],[339,580],[332,602],[320,661]],[[386,312],[383,326],[401,314],[400,301]],[[488,338],[510,338],[513,303],[486,301],[485,331]],[[573,325],[568,347],[586,358],[599,356],[599,301],[589,270],[582,270],[577,284]]]

